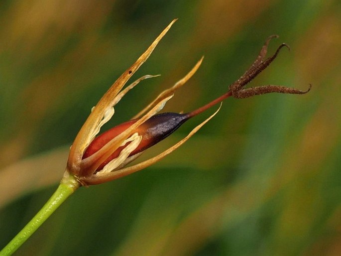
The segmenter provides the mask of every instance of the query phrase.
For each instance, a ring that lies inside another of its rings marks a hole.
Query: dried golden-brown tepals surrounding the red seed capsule
[[[122,168],[128,162],[137,158],[137,156],[139,156],[143,151],[140,150],[141,152],[129,156],[130,153],[140,145],[141,141],[143,142],[142,135],[136,132],[136,129],[141,129],[146,121],[155,116],[155,114],[157,114],[164,107],[166,102],[172,98],[174,91],[184,85],[193,76],[202,62],[201,59],[183,79],[177,82],[172,88],[161,93],[149,106],[147,106],[143,111],[136,115],[135,120],[133,122],[130,122],[131,125],[127,126],[125,124],[123,126],[120,126],[120,128],[124,128],[119,129],[119,132],[116,132],[115,134],[116,136],[112,136],[108,141],[106,141],[107,143],[105,144],[100,143],[100,148],[98,148],[96,152],[92,152],[92,154],[89,155],[89,148],[94,149],[94,147],[99,146],[98,143],[92,145],[91,143],[93,141],[98,142],[101,138],[103,138],[102,134],[97,139],[95,139],[96,135],[100,131],[100,128],[113,117],[114,106],[129,90],[136,86],[140,81],[154,77],[150,75],[143,76],[122,90],[125,83],[148,59],[158,42],[167,33],[167,31],[170,29],[175,21],[176,19],[174,19],[161,32],[161,34],[154,40],[149,48],[137,59],[137,61],[130,68],[128,68],[114,82],[107,93],[92,109],[90,116],[78,132],[71,146],[65,175],[71,174],[75,176],[77,180],[83,185],[99,184],[128,175],[132,172],[138,171],[153,164],[154,162],[158,161],[159,159],[163,158],[164,156],[178,148],[214,116],[213,115],[209,119],[204,121],[201,125],[193,129],[192,132],[188,134],[188,136],[186,136],[184,139],[182,139],[163,153],[139,164],[127,168]],[[115,131],[118,131],[118,129],[116,129]],[[105,134],[108,134],[108,132]],[[113,132],[111,132],[111,135],[113,135]],[[119,151],[117,151],[117,149]],[[117,156],[108,163],[103,164],[115,151],[118,152]],[[98,170],[99,167],[100,170]]]

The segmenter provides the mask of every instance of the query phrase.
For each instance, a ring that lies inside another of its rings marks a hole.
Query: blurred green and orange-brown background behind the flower
[[[0,247],[40,209],[100,97],[173,19],[105,127],[126,121],[205,55],[165,111],[227,91],[271,34],[253,82],[312,91],[227,99],[185,145],[143,171],[79,189],[23,256],[341,255],[339,0],[2,0]],[[145,155],[176,143],[214,109]]]

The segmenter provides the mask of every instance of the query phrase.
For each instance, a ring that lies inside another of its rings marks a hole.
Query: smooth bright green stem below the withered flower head
[[[46,204],[27,223],[27,225],[6,245],[0,252],[0,256],[12,255],[48,217],[77,189],[80,183],[74,176],[65,172],[64,177]]]

